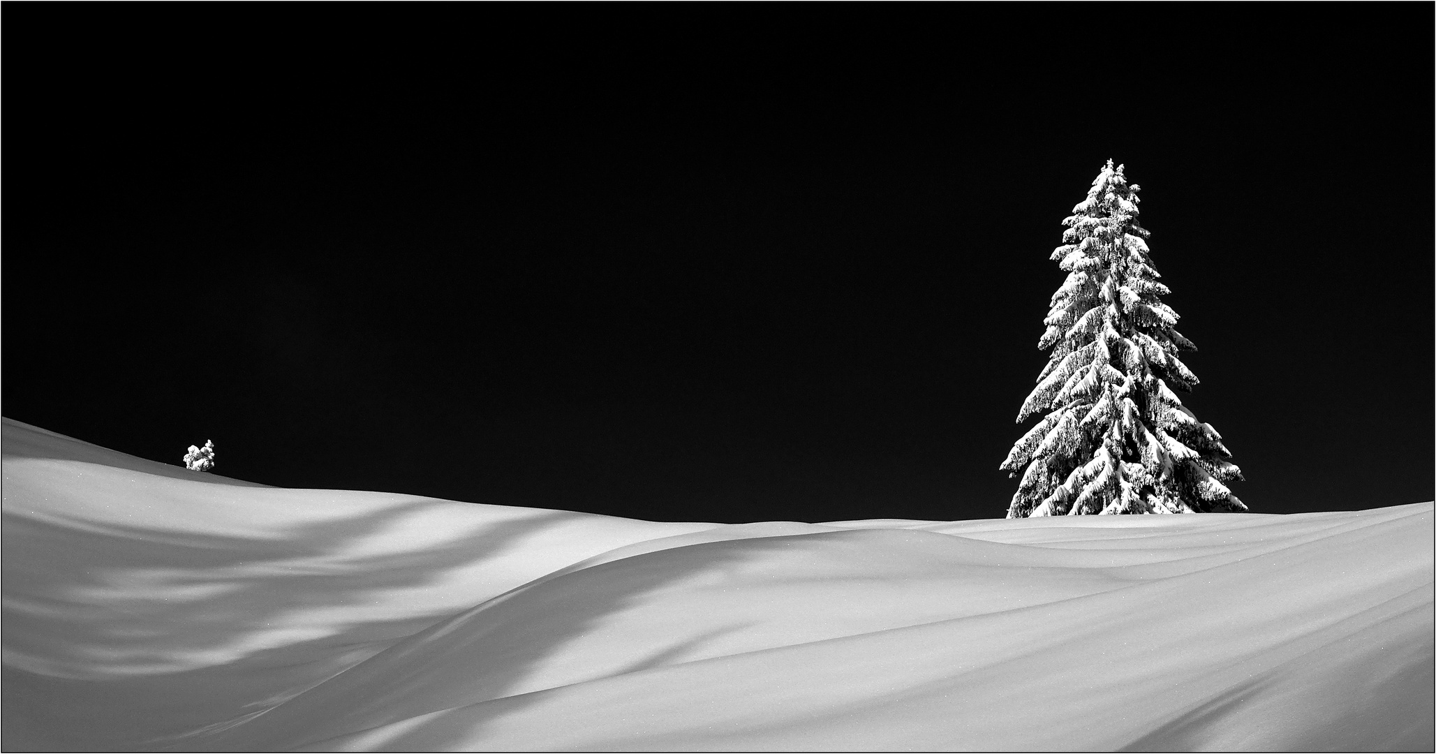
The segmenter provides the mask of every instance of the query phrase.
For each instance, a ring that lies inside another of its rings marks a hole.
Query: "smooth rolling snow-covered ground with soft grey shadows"
[[[1433,748],[1430,503],[653,523],[3,432],[9,751]]]

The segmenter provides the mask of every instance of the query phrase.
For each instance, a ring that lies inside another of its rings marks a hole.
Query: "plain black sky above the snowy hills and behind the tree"
[[[3,414],[284,487],[1001,517],[1110,157],[1236,494],[1432,500],[1433,7],[1104,7],[1152,17],[9,4]]]

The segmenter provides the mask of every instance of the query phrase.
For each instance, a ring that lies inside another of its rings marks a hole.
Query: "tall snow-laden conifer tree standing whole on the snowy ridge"
[[[1093,513],[1244,511],[1223,483],[1242,478],[1222,435],[1172,392],[1196,385],[1178,350],[1176,312],[1137,224],[1136,184],[1111,161],[1063,220],[1053,251],[1067,281],[1053,294],[1037,348],[1051,359],[1017,421],[1045,418],[999,468],[1022,471],[1008,518]]]

